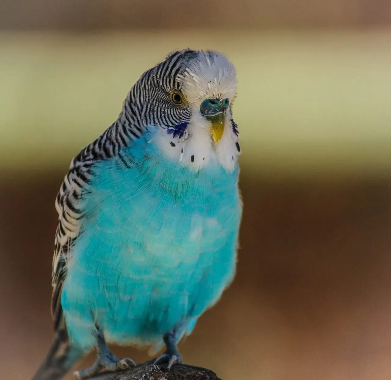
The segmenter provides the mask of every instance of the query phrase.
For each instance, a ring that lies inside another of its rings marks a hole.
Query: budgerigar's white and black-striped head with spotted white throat
[[[140,77],[125,101],[124,115],[141,128],[160,127],[158,143],[180,161],[189,156],[198,167],[212,155],[236,161],[240,149],[231,115],[236,85],[236,70],[223,54],[176,51]]]

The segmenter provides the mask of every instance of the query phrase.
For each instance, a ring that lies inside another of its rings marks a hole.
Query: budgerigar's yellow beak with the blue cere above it
[[[224,133],[225,113],[229,105],[228,99],[205,99],[199,108],[201,115],[210,121],[209,134],[215,145],[219,143]]]

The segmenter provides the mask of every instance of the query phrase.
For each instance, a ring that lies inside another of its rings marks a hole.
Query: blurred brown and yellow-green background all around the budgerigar
[[[29,379],[52,340],[71,158],[186,47],[237,67],[244,216],[235,282],[185,362],[223,380],[389,379],[389,0],[2,0],[0,29],[2,380]]]

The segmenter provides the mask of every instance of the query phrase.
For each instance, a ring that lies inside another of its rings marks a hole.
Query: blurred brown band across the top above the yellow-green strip
[[[388,0],[2,0],[12,30],[388,26]]]

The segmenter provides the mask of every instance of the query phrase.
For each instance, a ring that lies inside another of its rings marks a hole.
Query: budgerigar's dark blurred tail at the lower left
[[[65,328],[56,331],[54,341],[44,362],[32,380],[59,380],[83,355],[80,349],[72,347]]]

